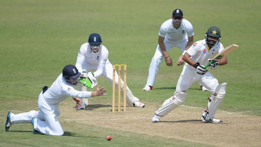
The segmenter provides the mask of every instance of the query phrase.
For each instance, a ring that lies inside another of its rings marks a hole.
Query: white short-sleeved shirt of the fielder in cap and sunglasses
[[[176,29],[173,26],[173,20],[168,19],[161,25],[159,35],[172,42],[180,41],[185,39],[186,36],[191,37],[194,35],[193,26],[189,21],[183,19],[180,27]]]

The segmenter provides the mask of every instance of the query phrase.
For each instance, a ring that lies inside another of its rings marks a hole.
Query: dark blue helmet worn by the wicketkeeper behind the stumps
[[[88,43],[91,49],[91,53],[98,53],[102,47],[102,38],[99,34],[93,33],[89,36]]]

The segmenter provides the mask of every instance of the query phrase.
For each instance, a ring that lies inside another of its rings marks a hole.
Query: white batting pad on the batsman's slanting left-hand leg
[[[171,96],[166,101],[164,101],[161,108],[155,111],[155,114],[165,116],[166,114],[174,110],[176,107],[184,103],[187,95],[188,93],[186,92],[176,93],[174,96]]]

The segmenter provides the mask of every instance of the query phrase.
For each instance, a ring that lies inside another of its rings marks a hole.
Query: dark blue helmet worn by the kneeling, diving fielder
[[[78,69],[74,65],[66,65],[63,69],[63,78],[70,85],[78,85],[80,80],[79,78],[80,75],[81,73],[79,73]],[[77,83],[72,84],[69,78],[75,79],[77,77],[78,77]]]

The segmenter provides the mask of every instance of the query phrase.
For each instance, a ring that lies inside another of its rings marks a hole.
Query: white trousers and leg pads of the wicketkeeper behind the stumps
[[[97,65],[90,65],[90,64],[82,64],[82,70],[85,70],[87,73],[90,72],[91,70],[96,71],[97,70]],[[122,71],[123,73],[123,71]],[[112,86],[113,83],[113,65],[110,62],[106,62],[103,71],[102,71],[102,75],[108,79],[108,81],[110,82],[110,85]],[[123,77],[123,75],[122,75]],[[118,89],[118,74],[117,74],[117,69],[115,72],[115,89]],[[79,83],[76,86],[78,91],[82,91],[82,90],[86,90],[84,89],[84,86],[82,86],[81,83]],[[124,90],[124,81],[121,79],[121,95],[123,96],[123,90]],[[87,98],[80,98],[82,102],[86,101]],[[87,100],[88,101],[88,100]],[[133,106],[133,103],[136,101],[131,90],[129,89],[129,87],[126,85],[126,101],[127,104],[130,106]],[[87,104],[88,105],[88,104]]]

